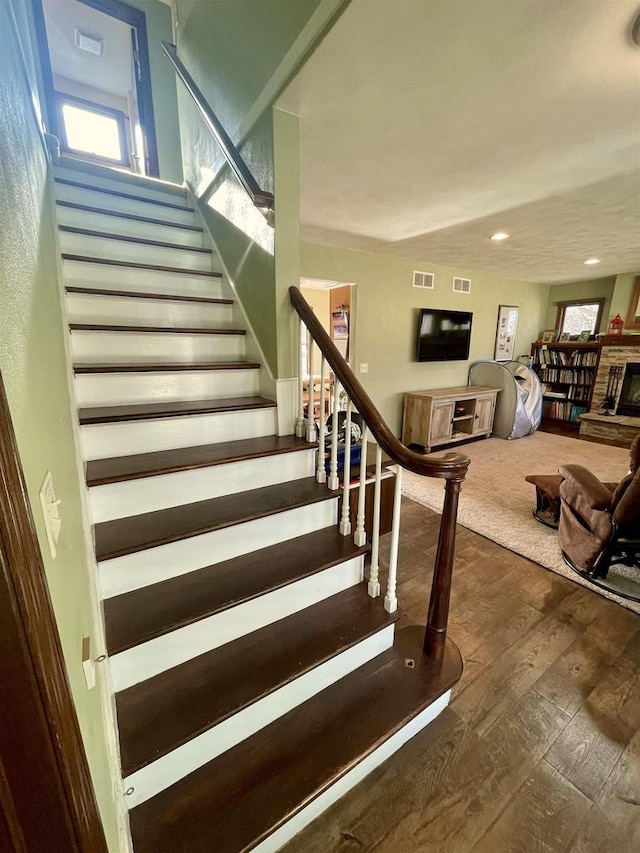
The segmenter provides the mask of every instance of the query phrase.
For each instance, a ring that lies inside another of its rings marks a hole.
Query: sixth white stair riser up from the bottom
[[[243,409],[237,412],[215,412],[121,421],[111,424],[86,424],[80,427],[84,459],[106,459],[195,447],[219,441],[240,441],[275,432],[275,410]]]

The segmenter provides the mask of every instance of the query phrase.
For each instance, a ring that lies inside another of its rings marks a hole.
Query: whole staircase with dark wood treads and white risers
[[[459,657],[367,595],[184,189],[55,186],[133,849],[275,851],[446,706]]]

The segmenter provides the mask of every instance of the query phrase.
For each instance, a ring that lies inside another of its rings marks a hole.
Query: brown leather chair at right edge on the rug
[[[615,487],[581,465],[562,465],[558,542],[568,565],[594,581],[613,565],[638,569],[640,582],[640,435],[630,470]],[[635,596],[629,595],[629,598]]]

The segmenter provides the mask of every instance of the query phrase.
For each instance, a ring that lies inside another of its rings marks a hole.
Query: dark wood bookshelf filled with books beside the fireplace
[[[531,366],[542,383],[540,429],[575,433],[589,411],[600,346],[589,343],[531,344]]]

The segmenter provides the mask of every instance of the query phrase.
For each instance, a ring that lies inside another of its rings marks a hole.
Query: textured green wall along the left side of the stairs
[[[24,47],[24,0],[15,7]],[[100,685],[88,691],[81,665],[83,636],[94,640],[92,595],[81,521],[58,284],[53,205],[46,160],[21,62],[11,6],[0,3],[0,370],[41,543],[69,680],[108,839],[116,851]],[[28,63],[30,64],[30,63]],[[62,503],[58,555],[51,559],[38,490],[47,470]],[[98,676],[100,673],[98,673]],[[37,780],[34,780],[37,784]]]

